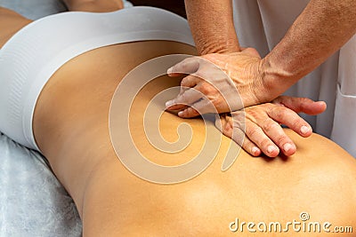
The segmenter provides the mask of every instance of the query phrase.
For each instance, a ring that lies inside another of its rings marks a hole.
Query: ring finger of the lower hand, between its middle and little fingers
[[[276,157],[279,154],[279,147],[276,146],[255,122],[246,120],[246,135],[258,146],[264,154],[269,157]]]

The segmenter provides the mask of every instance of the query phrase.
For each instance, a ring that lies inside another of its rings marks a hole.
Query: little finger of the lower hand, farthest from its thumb
[[[231,138],[239,146],[253,156],[258,156],[261,154],[261,150],[255,146],[247,136],[245,132],[241,130],[240,126],[237,123],[233,122],[231,116],[221,115],[220,121],[215,121],[215,126],[228,138]]]

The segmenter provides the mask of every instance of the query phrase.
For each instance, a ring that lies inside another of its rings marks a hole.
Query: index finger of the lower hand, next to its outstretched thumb
[[[274,107],[268,111],[268,115],[274,121],[287,125],[288,128],[294,130],[303,138],[307,138],[312,135],[311,125],[287,107]]]

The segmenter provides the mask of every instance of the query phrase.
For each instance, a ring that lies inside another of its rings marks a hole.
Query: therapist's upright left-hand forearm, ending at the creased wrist
[[[231,0],[186,0],[190,29],[199,54],[239,51]]]

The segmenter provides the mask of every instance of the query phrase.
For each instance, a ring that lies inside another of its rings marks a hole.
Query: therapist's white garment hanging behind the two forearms
[[[241,46],[266,55],[279,43],[309,0],[235,0],[234,23]],[[356,36],[285,94],[324,100],[327,110],[302,115],[315,132],[333,139],[356,157]]]

